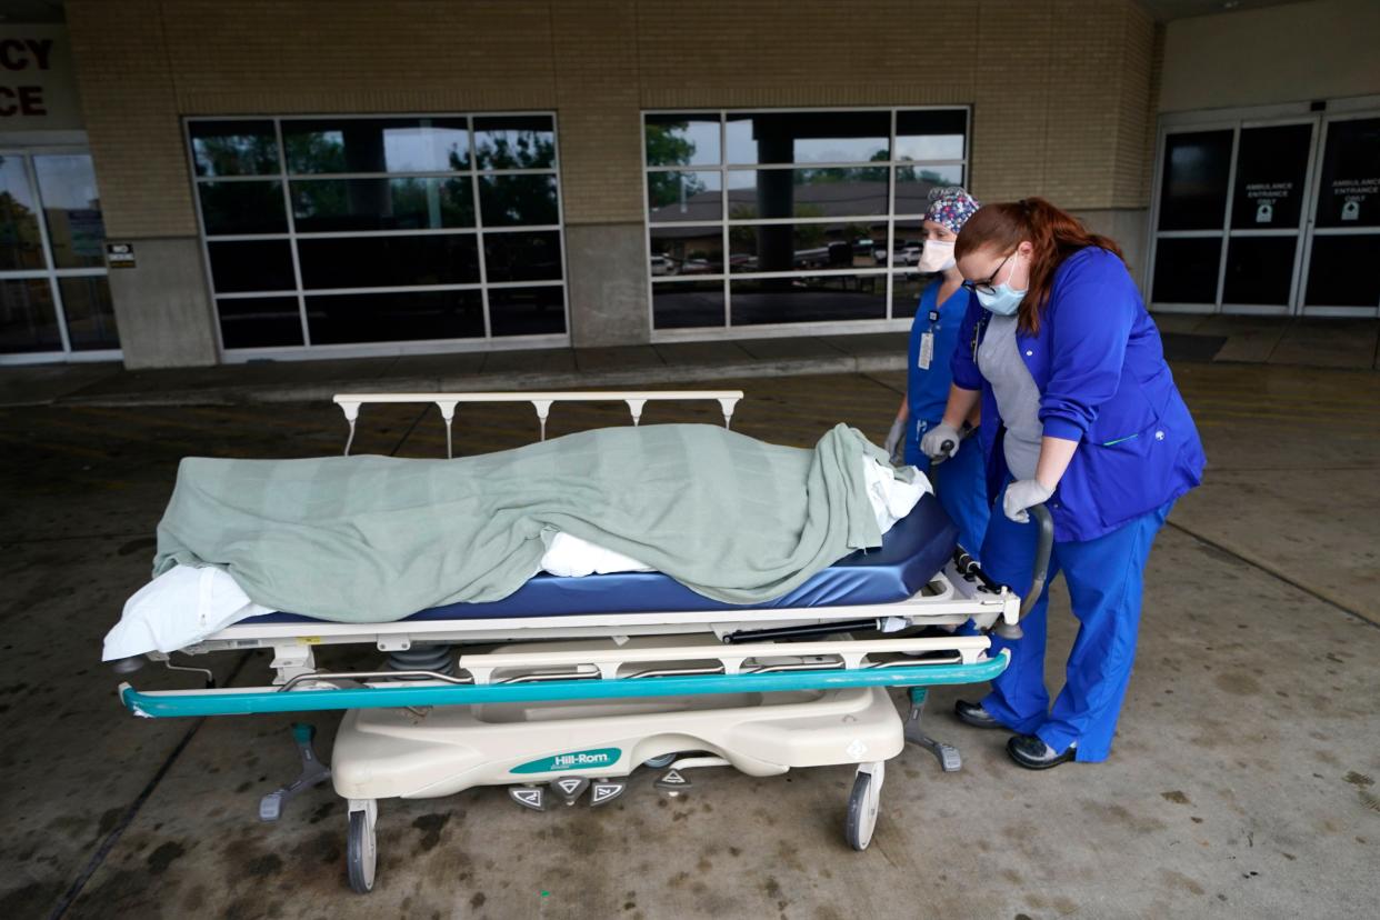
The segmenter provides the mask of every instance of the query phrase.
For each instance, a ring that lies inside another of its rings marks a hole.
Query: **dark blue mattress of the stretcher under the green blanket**
[[[407,617],[407,621],[894,604],[927,585],[944,568],[956,543],[954,523],[933,495],[925,495],[882,537],[879,549],[845,556],[791,593],[760,604],[711,600],[661,572],[613,572],[584,578],[540,574],[502,600],[432,607]],[[237,625],[294,622],[317,621],[298,614],[265,614]]]

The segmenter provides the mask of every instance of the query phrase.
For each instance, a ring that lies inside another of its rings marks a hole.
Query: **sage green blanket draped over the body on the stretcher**
[[[564,531],[751,604],[882,543],[864,454],[885,459],[845,425],[814,450],[649,425],[451,461],[189,457],[155,574],[219,566],[266,607],[381,622],[506,597]]]

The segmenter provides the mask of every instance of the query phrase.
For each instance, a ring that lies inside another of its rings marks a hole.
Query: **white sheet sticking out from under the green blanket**
[[[883,534],[909,514],[920,497],[933,491],[919,470],[914,483],[905,483],[897,479],[891,466],[871,457],[864,457],[861,462],[868,502]],[[651,571],[635,559],[559,532],[548,539],[541,568],[570,578],[595,572]],[[251,601],[229,572],[213,566],[177,566],[126,601],[120,622],[105,637],[101,661],[155,650],[177,651],[241,619],[270,612],[272,608]]]

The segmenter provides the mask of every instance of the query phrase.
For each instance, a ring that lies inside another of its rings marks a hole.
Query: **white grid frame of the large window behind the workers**
[[[727,124],[730,116],[753,116],[753,114],[776,114],[776,113],[829,113],[829,112],[886,112],[890,120],[890,135],[889,135],[889,159],[875,160],[867,163],[853,163],[853,161],[818,161],[818,163],[753,163],[753,164],[734,164],[729,163],[729,138],[727,138]],[[897,152],[897,114],[901,112],[962,112],[963,113],[963,156],[958,159],[934,159],[934,160],[898,160],[896,159]],[[656,116],[675,116],[675,114],[696,114],[696,116],[718,116],[719,119],[719,163],[718,164],[690,164],[690,166],[649,166],[647,164],[647,119]],[[896,252],[896,225],[907,221],[919,221],[925,217],[923,211],[918,214],[904,212],[898,214],[896,211],[896,170],[897,167],[918,167],[918,166],[934,166],[934,167],[949,167],[958,166],[962,170],[960,185],[965,188],[972,182],[972,163],[973,163],[973,106],[966,103],[955,105],[896,105],[896,106],[789,106],[789,108],[657,108],[657,109],[642,109],[639,113],[639,150],[640,150],[640,172],[642,172],[642,243],[643,243],[643,262],[642,270],[646,277],[646,291],[647,291],[647,332],[653,343],[658,342],[684,342],[684,341],[708,341],[720,338],[778,338],[778,337],[792,337],[792,335],[832,335],[832,334],[849,334],[849,332],[890,332],[890,331],[904,331],[911,328],[914,316],[896,316],[896,303],[893,301],[894,280],[897,274],[907,274],[907,272],[898,272],[891,259]],[[874,215],[845,215],[845,217],[820,217],[820,218],[731,218],[729,210],[729,196],[731,193],[730,174],[731,172],[753,172],[762,170],[827,170],[827,168],[880,168],[887,172],[887,190],[886,190],[886,214]],[[673,221],[673,222],[657,222],[651,219],[651,201],[650,201],[650,181],[649,177],[654,172],[718,172],[719,174],[719,210],[720,217],[718,221]],[[886,239],[885,246],[887,252],[887,263],[885,266],[874,268],[843,268],[843,269],[816,269],[810,272],[734,272],[731,259],[731,246],[729,239],[729,232],[734,226],[763,226],[763,225],[803,225],[803,223],[839,223],[858,219],[868,221],[872,223],[886,225]],[[654,229],[661,228],[720,228],[720,246],[723,248],[723,270],[722,273],[705,273],[705,274],[690,274],[683,277],[676,277],[675,280],[661,279],[657,280],[651,274],[651,233]],[[802,323],[762,323],[762,324],[733,324],[733,295],[731,284],[733,281],[747,281],[758,279],[778,279],[778,277],[827,277],[827,276],[885,276],[886,284],[883,291],[883,302],[886,305],[886,316],[882,319],[862,319],[862,320],[822,320],[822,321],[802,321]],[[657,284],[673,286],[678,283],[708,283],[722,280],[723,284],[723,324],[722,326],[702,326],[690,328],[661,328],[656,326],[656,290]]]

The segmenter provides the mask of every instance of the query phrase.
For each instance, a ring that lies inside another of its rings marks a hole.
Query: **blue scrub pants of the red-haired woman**
[[[1023,735],[1039,735],[1057,752],[1076,741],[1075,759],[1083,763],[1107,760],[1136,659],[1145,560],[1172,505],[1096,539],[1054,543],[1045,590],[1021,619],[1024,637],[1007,641],[992,634],[992,654],[1012,651],[1010,666],[983,699],[983,708],[999,723]],[[1035,534],[1034,521],[1017,524],[1006,517],[998,498],[983,545],[983,568],[1024,594],[1034,577]],[[1079,628],[1064,688],[1050,709],[1045,636],[1049,583],[1057,572],[1064,572]]]

